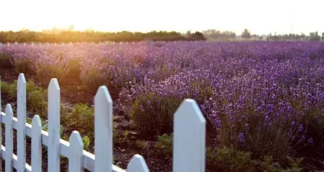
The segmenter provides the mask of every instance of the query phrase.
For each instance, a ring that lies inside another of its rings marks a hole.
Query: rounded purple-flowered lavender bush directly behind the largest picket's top
[[[203,102],[212,96],[209,71],[180,73],[155,83],[144,78],[143,83],[129,82],[130,87],[119,94],[119,102],[128,110],[134,127],[157,134],[172,131],[173,114],[184,98]]]

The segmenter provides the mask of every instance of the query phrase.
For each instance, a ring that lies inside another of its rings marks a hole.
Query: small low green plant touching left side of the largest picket
[[[172,134],[164,134],[161,136],[157,136],[157,142],[155,147],[161,151],[161,153],[167,157],[172,157],[173,151],[173,135]]]

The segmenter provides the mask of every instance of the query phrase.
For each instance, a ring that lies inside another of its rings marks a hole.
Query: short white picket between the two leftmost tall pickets
[[[37,115],[31,124],[31,171],[42,171],[42,123]]]

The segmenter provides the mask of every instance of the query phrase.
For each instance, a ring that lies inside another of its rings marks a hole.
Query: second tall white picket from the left
[[[56,78],[48,87],[48,171],[60,170],[60,87]]]

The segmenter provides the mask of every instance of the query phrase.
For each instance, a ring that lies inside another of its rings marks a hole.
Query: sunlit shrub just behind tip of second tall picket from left
[[[61,80],[64,74],[64,69],[62,66],[55,65],[38,65],[36,66],[36,78],[37,81],[44,87],[48,87],[52,78],[57,78]]]

